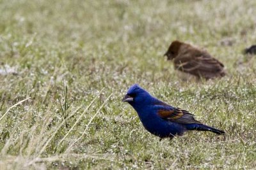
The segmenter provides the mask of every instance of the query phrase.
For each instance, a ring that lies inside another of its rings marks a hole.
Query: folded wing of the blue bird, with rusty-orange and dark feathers
[[[174,110],[159,110],[157,111],[157,114],[164,120],[169,120],[171,122],[180,124],[201,124],[195,120],[194,115],[186,110],[181,110],[180,108],[174,108]]]

